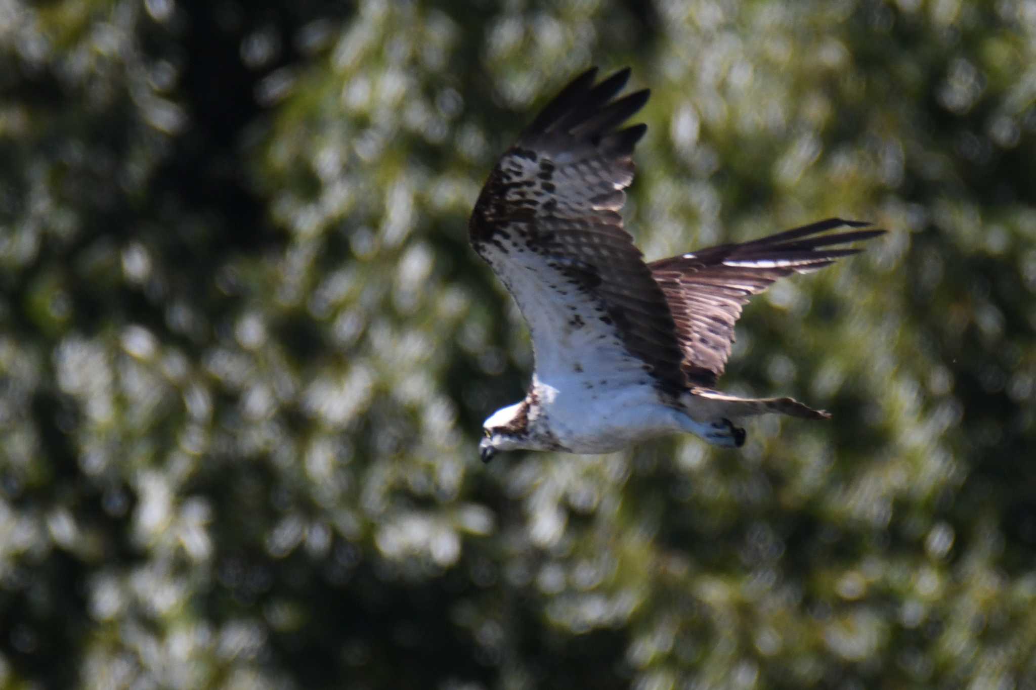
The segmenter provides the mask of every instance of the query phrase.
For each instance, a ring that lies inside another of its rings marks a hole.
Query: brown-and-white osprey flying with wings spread
[[[620,128],[649,96],[615,99],[629,76],[595,85],[595,67],[577,77],[503,154],[474,205],[471,245],[518,303],[536,359],[525,398],[485,421],[484,461],[501,450],[604,453],[675,431],[735,447],[745,430],[731,420],[830,417],[789,397],[714,386],[753,295],[885,231],[823,235],[870,224],[830,218],[645,263],[620,214],[648,128]]]

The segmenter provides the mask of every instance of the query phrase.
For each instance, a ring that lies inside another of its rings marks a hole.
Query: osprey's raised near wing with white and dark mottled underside
[[[618,127],[649,92],[614,99],[630,70],[595,86],[596,76],[576,78],[503,154],[469,238],[528,322],[541,382],[646,372],[683,391],[675,324],[620,214],[646,125]]]

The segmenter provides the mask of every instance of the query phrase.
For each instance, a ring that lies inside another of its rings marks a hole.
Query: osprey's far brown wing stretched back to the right
[[[779,277],[830,266],[861,249],[829,248],[866,240],[884,230],[819,235],[868,222],[829,218],[752,242],[721,244],[649,266],[662,288],[684,351],[684,371],[692,384],[714,386],[723,373],[741,307]]]

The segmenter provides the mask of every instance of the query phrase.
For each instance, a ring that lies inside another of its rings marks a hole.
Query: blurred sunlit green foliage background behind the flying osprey
[[[650,259],[890,229],[738,328],[832,422],[479,462],[591,64]],[[0,0],[0,688],[1036,688],[1034,180],[1031,0]]]

